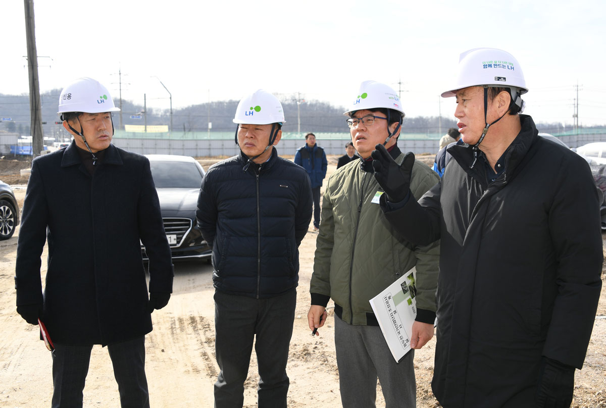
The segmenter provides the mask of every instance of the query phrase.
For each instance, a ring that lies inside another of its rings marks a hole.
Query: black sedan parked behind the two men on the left
[[[204,169],[189,156],[145,156],[150,161],[173,260],[210,259],[212,249],[196,226],[196,206]],[[141,251],[147,259],[145,247],[141,246]]]

